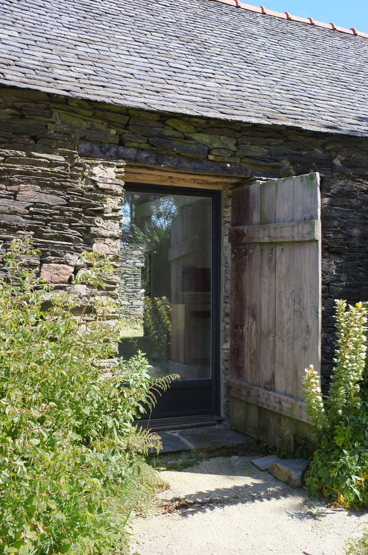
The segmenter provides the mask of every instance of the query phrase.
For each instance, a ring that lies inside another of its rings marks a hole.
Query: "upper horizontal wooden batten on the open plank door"
[[[303,220],[279,224],[239,225],[229,229],[229,243],[284,243],[320,238],[320,221]]]

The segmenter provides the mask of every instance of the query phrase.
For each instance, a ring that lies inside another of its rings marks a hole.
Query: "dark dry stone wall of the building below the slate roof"
[[[180,117],[3,88],[0,148],[1,236],[7,240],[26,229],[42,250],[42,258],[34,263],[59,283],[78,271],[75,254],[85,248],[112,253],[117,259],[122,160],[244,178],[318,171],[322,372],[329,374],[334,299],[368,300],[367,138]],[[116,284],[109,287],[115,295]],[[226,341],[226,326],[223,337]]]

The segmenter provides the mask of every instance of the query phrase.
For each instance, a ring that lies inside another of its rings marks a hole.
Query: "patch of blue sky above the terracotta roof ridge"
[[[257,2],[248,1],[248,4],[258,6]],[[313,17],[316,21],[333,22],[346,29],[355,27],[368,33],[368,0],[263,0],[262,5],[277,12]]]

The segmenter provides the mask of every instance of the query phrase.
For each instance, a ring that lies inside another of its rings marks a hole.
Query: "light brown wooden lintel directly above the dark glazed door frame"
[[[213,190],[232,189],[244,179],[242,176],[193,174],[154,166],[126,165],[124,173],[126,183]]]

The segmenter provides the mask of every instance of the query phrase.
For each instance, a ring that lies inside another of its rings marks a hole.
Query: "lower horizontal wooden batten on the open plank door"
[[[233,378],[227,380],[227,392],[231,397],[310,423],[310,416],[306,413],[306,403],[304,401],[269,391],[263,387],[246,384],[246,382]]]

